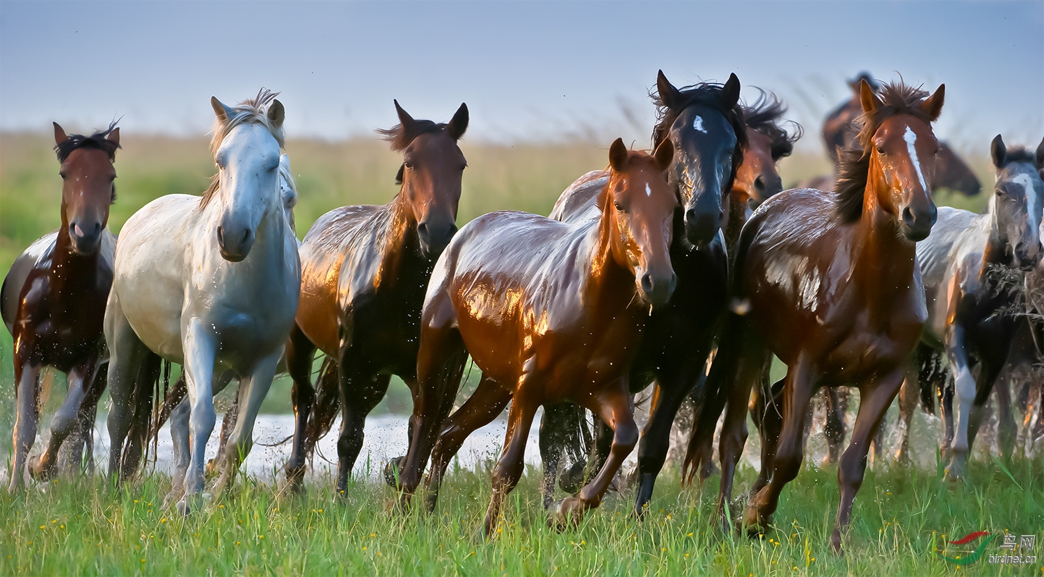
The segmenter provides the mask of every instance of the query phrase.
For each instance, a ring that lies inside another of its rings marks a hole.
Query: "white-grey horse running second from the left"
[[[212,98],[218,173],[211,187],[201,199],[171,194],[149,202],[126,221],[116,247],[105,311],[110,475],[123,480],[137,465],[133,444],[130,459],[121,463],[121,453],[132,425],[142,418],[141,399],[148,396],[138,389],[151,386],[139,378],[142,367],[155,355],[182,364],[191,456],[175,472],[168,500],[180,496],[183,513],[203,491],[215,367],[240,377],[239,417],[215,487],[219,495],[250,452],[254,420],[298,309],[301,263],[279,177],[285,113],[275,96],[262,89],[232,107]]]

